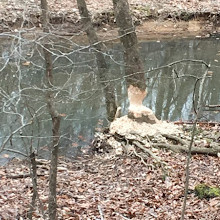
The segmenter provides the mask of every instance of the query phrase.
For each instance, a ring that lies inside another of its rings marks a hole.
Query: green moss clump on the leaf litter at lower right
[[[195,194],[200,199],[209,199],[214,197],[220,197],[220,188],[207,186],[206,184],[199,184],[195,186]]]

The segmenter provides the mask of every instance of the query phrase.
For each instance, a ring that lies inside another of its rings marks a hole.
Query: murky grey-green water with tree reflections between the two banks
[[[205,80],[203,106],[220,103],[220,43],[219,39],[178,39],[140,43],[140,53],[146,71],[148,94],[144,104],[162,120],[192,120],[193,93],[197,99],[198,77],[210,64]],[[6,147],[22,152],[30,146],[47,157],[51,138],[51,120],[47,112],[44,84],[44,59],[40,40],[1,40],[0,58],[0,144],[34,114],[31,126],[15,133]],[[81,146],[90,144],[95,130],[107,124],[105,101],[97,79],[94,50],[72,41],[53,43],[54,89],[56,107],[62,115],[61,151],[74,156]],[[123,51],[120,44],[108,44],[105,54],[110,72],[107,76],[115,88],[117,103],[126,114],[128,107],[124,77]],[[151,71],[149,71],[151,70]],[[178,77],[177,77],[178,76]],[[203,107],[201,120],[220,121],[218,109]],[[212,110],[212,111],[211,111]],[[0,146],[1,146],[0,145]]]

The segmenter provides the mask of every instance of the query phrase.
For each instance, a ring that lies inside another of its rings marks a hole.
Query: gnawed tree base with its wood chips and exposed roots
[[[170,139],[173,139],[175,143],[180,141],[182,145],[185,145],[185,142],[181,140],[182,131],[178,126],[159,121],[149,108],[143,106],[145,96],[146,91],[143,88],[129,86],[128,115],[119,117],[118,114],[109,129],[96,132],[92,143],[95,152],[107,152],[110,155],[135,155],[141,158],[143,163],[151,156],[156,163],[163,166],[160,155],[154,153],[159,152],[155,150],[158,144],[168,148]]]

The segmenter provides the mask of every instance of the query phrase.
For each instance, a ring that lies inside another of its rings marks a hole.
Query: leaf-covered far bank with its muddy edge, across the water
[[[101,37],[117,36],[112,0],[87,0],[93,22]],[[82,30],[76,1],[48,0],[50,22],[60,34]],[[129,0],[137,34],[143,39],[208,37],[219,32],[220,0]],[[0,32],[41,27],[40,1],[2,0]]]

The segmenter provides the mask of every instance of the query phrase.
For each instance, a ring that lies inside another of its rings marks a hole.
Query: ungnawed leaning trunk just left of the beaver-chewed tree
[[[99,79],[102,86],[104,87],[108,120],[113,121],[116,114],[117,106],[115,101],[114,87],[110,82],[108,82],[109,68],[102,52],[103,44],[99,41],[98,36],[94,30],[85,0],[77,0],[77,5],[79,8],[79,13],[81,15],[82,23],[85,28],[85,32],[89,39],[89,43],[96,50],[95,55],[99,71]]]

